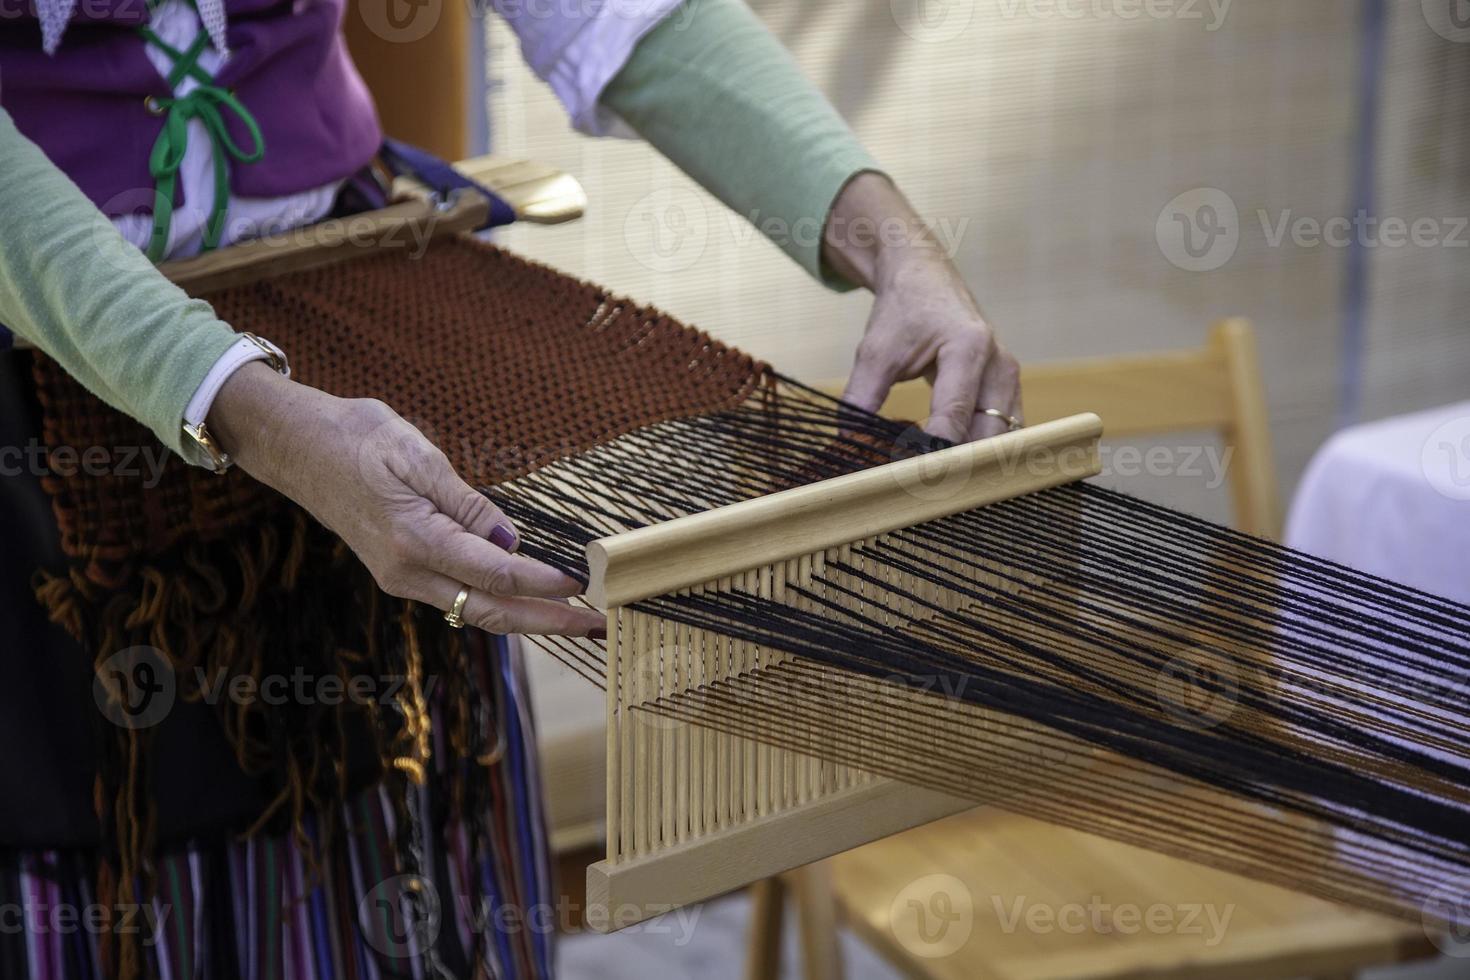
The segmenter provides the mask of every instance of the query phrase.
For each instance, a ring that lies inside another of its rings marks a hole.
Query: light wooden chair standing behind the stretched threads
[[[1236,526],[1264,536],[1279,532],[1266,398],[1248,322],[1217,323],[1200,350],[1036,364],[1022,378],[1030,423],[1097,411],[1111,438],[1217,432],[1233,450]],[[910,382],[895,388],[883,413],[923,419],[928,407],[928,385]],[[1413,924],[989,808],[756,886],[751,979],[776,976],[788,893],[811,980],[841,976],[831,932],[838,918],[916,980],[1342,979],[1435,954]],[[1101,905],[1114,911],[1097,911]],[[1200,912],[1186,929],[1182,920],[1194,907]],[[1110,917],[1122,915],[1120,908],[1157,908],[1157,921],[1167,914],[1176,927],[1133,923],[1130,911],[1126,921]],[[1229,921],[1220,927],[1226,909]],[[1100,915],[1114,932],[1097,927]]]

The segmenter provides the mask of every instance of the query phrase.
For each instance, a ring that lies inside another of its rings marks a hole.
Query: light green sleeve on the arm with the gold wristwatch
[[[0,323],[184,451],[184,408],[235,334],[113,229],[0,109]]]

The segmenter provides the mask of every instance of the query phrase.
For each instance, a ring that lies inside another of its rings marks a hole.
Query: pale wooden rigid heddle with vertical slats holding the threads
[[[662,621],[638,601],[732,585],[779,599],[854,544],[1097,475],[1101,432],[1097,416],[1072,416],[592,542],[588,598],[609,635],[607,858],[587,873],[588,923],[622,929],[976,805],[647,710],[716,682],[739,689],[794,658]],[[900,594],[961,601],[888,574]]]

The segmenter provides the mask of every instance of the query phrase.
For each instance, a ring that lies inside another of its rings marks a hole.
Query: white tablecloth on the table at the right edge
[[[1470,602],[1470,401],[1329,439],[1292,500],[1286,544]]]

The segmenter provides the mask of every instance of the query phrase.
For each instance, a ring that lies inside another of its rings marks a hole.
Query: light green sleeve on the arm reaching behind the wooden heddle
[[[741,0],[689,0],[634,48],[601,103],[810,275],[842,187],[878,170],[853,131]]]

